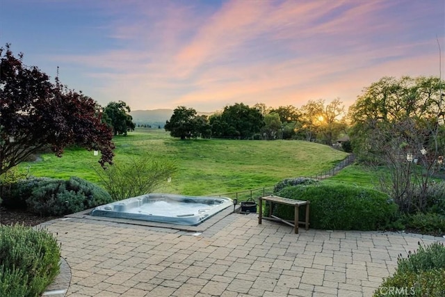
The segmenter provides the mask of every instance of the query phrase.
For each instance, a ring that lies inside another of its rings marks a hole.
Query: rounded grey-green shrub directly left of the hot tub
[[[109,202],[113,200],[106,191],[79,177],[42,180],[26,199],[29,211],[41,216],[63,216]]]

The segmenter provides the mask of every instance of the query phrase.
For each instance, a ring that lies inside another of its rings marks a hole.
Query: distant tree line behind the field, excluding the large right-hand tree
[[[300,109],[292,105],[273,108],[262,103],[252,107],[236,103],[210,116],[178,106],[164,129],[181,139],[300,139],[332,145],[346,134],[347,127],[345,106],[337,98],[330,103],[309,100]]]

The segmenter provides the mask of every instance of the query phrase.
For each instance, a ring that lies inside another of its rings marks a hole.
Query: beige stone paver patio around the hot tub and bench
[[[42,227],[58,234],[65,296],[371,296],[398,255],[418,242],[445,241],[390,232],[293,234],[280,223],[258,225],[255,214],[207,225],[196,232],[74,217]],[[53,285],[47,295],[63,294]]]

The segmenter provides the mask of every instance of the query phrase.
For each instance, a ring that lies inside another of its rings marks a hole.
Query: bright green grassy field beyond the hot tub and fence
[[[329,170],[347,154],[306,141],[235,141],[198,139],[181,141],[163,129],[138,128],[113,139],[115,161],[149,154],[177,165],[172,182],[159,192],[184,195],[217,195],[273,186],[287,177],[315,175]],[[40,161],[20,164],[36,177],[67,179],[78,176],[99,182],[93,169],[98,156],[79,148],[66,150],[62,158],[40,155]]]

